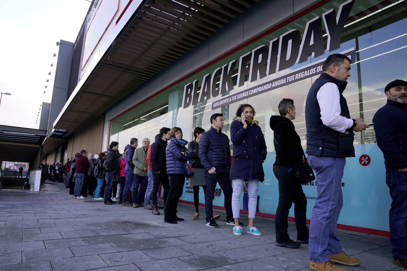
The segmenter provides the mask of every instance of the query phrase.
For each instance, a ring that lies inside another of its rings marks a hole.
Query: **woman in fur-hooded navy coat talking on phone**
[[[240,198],[245,179],[248,180],[249,223],[246,232],[260,236],[253,226],[257,207],[258,182],[264,180],[263,162],[267,156],[266,141],[258,121],[253,117],[256,111],[249,104],[241,104],[230,125],[230,139],[233,143],[233,163],[230,178],[233,179],[232,211],[234,218],[233,234],[242,235],[239,225]]]

